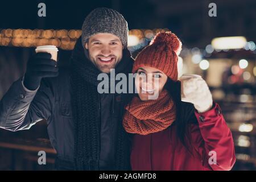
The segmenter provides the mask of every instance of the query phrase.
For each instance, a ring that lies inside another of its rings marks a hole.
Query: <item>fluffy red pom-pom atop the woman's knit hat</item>
[[[182,43],[177,36],[169,32],[159,32],[155,35],[155,38],[151,40],[150,45],[152,44],[166,44],[172,51],[174,51],[177,56],[180,54]]]

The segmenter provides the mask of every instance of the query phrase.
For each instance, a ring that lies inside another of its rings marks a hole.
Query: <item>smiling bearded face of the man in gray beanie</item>
[[[101,72],[110,73],[122,59],[122,42],[113,34],[101,33],[91,36],[85,44],[89,59]]]

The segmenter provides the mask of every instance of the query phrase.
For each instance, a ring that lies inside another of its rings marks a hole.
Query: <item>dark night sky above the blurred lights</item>
[[[38,17],[46,3],[47,16]],[[118,10],[129,29],[169,28],[189,46],[207,45],[218,36],[246,36],[256,41],[255,0],[215,0],[217,17],[208,16],[211,0],[23,0],[0,2],[1,28],[81,29],[96,7]]]

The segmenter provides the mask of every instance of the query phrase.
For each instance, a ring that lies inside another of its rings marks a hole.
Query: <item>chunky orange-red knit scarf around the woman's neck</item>
[[[166,129],[176,119],[176,107],[167,90],[163,90],[157,100],[141,101],[134,97],[125,109],[123,127],[127,133],[156,133]]]

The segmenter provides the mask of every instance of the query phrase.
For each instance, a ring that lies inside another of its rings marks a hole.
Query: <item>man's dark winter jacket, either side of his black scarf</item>
[[[80,48],[79,54],[84,54],[81,51],[84,51],[83,48]],[[127,71],[131,72],[133,59],[130,53],[128,56],[130,64],[127,65]],[[43,78],[40,87],[35,91],[26,89],[23,85],[24,76],[20,77],[11,85],[0,102],[2,129],[26,130],[36,122],[46,119],[49,139],[57,151],[56,161],[61,164],[58,169],[72,169],[74,159],[74,122],[69,68],[69,65],[59,67],[59,76]],[[98,112],[101,113],[100,169],[111,169],[115,155],[116,126],[117,122],[122,122],[125,107],[123,94],[99,94],[99,100],[96,102],[100,102],[101,105]]]

